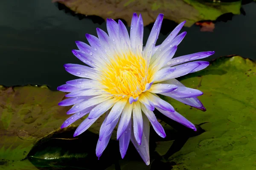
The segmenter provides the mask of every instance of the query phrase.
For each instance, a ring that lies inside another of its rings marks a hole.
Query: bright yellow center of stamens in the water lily
[[[148,83],[148,66],[141,55],[121,54],[113,57],[101,76],[102,85],[116,98],[136,98]]]

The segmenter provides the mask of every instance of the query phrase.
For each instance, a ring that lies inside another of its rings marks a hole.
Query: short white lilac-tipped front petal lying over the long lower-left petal
[[[106,111],[108,111],[110,108],[113,107],[113,105],[116,103],[116,99],[109,99],[106,100],[102,103],[100,103],[99,105],[97,105],[95,108],[93,108],[90,111],[90,114],[88,116],[89,119],[95,119],[96,117],[101,116],[102,114],[104,114]]]

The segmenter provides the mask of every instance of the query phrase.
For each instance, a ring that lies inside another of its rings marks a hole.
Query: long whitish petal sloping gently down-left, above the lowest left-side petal
[[[102,103],[102,102],[104,102],[106,100],[109,100],[109,99],[111,99],[111,97],[103,96],[103,97],[97,97],[97,98],[94,98],[94,99],[90,99],[90,100],[87,100],[85,102],[81,102],[79,104],[73,105],[73,107],[69,111],[67,111],[67,114],[77,113],[77,112],[82,111],[86,108],[89,108],[90,106],[97,105],[97,104]]]

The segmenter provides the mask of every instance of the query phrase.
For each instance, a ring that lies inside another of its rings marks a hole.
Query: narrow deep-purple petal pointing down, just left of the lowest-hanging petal
[[[122,133],[122,136],[119,139],[119,150],[120,150],[122,159],[124,159],[125,157],[126,151],[130,143],[130,139],[131,139],[131,120],[128,122],[128,126],[125,128],[124,133]]]

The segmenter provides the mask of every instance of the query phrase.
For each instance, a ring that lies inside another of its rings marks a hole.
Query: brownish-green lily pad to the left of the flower
[[[58,106],[64,95],[46,86],[0,87],[0,167],[17,169],[12,165],[21,164],[16,161],[25,159],[36,141],[61,127],[70,109]],[[90,131],[97,133],[102,120]]]

